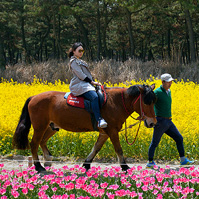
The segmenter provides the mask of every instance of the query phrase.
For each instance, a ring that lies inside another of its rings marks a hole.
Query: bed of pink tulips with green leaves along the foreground
[[[38,174],[34,166],[27,169],[4,169],[0,164],[0,199],[89,199],[89,198],[198,198],[199,169],[169,166],[146,170],[141,166],[127,172],[112,166],[89,171],[79,165],[61,169],[47,168]]]

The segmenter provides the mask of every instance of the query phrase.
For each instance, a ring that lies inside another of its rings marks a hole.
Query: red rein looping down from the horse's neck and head
[[[128,110],[127,110],[127,108],[126,108],[126,106],[125,106],[125,103],[124,103],[124,89],[122,90],[121,95],[122,95],[122,102],[123,102],[124,109],[125,109],[125,111],[128,113],[128,115],[131,116],[131,114],[128,112]],[[137,136],[138,136],[138,132],[139,132],[139,129],[140,129],[141,121],[142,121],[143,118],[144,118],[144,112],[143,112],[143,107],[142,107],[142,94],[141,94],[141,93],[140,93],[140,95],[137,97],[137,99],[135,100],[135,102],[133,103],[133,105],[134,105],[139,99],[140,99],[141,117],[138,119],[138,118],[134,118],[134,117],[131,116],[131,118],[133,118],[134,120],[139,120],[139,121],[136,122],[136,123],[134,123],[134,124],[131,124],[131,125],[128,126],[128,127],[126,126],[126,121],[125,121],[125,129],[122,129],[122,130],[121,130],[121,131],[125,130],[126,142],[127,142],[129,145],[134,144],[134,142],[135,142],[135,140],[136,140],[136,138],[137,138]],[[130,142],[128,141],[128,138],[127,138],[127,129],[128,129],[128,128],[132,128],[133,126],[135,126],[135,125],[138,124],[138,123],[139,123],[139,127],[138,127],[138,129],[137,129],[136,136],[135,136],[133,142],[130,143]]]

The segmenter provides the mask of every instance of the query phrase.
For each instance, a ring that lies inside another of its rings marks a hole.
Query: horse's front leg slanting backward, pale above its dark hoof
[[[104,134],[104,133],[100,133],[99,137],[91,151],[91,153],[87,156],[83,167],[88,171],[90,169],[90,165],[91,162],[93,161],[94,157],[96,156],[96,154],[100,151],[100,149],[102,148],[102,146],[104,145],[104,143],[106,142],[106,140],[108,139],[108,135]]]

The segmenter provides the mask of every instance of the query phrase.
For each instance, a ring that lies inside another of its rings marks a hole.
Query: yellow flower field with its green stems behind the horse
[[[156,84],[156,88],[160,86],[161,81],[151,77],[150,80],[139,82],[131,81],[120,83],[118,85],[108,84],[107,86],[128,87],[134,84]],[[32,84],[18,84],[13,81],[2,80],[0,83],[0,155],[9,153],[29,154],[30,151],[19,152],[12,149],[12,136],[18,124],[21,110],[26,99],[32,95],[39,94],[45,91],[69,91],[69,85],[60,81],[55,84],[41,82],[35,79]],[[172,115],[173,122],[184,137],[185,153],[188,157],[197,159],[199,157],[199,85],[194,82],[178,81],[173,82],[172,91]],[[137,114],[133,114],[135,117]],[[127,125],[134,123],[132,118],[128,118]],[[128,139],[133,141],[138,126],[128,130]],[[148,147],[152,138],[153,129],[144,127],[143,123],[139,131],[136,142],[129,146],[125,141],[124,132],[120,133],[120,140],[124,155],[126,157],[146,159]],[[32,136],[32,129],[29,134]],[[65,130],[60,130],[48,142],[48,147],[54,156],[72,156],[85,158],[91,151],[98,132],[91,133],[72,133]],[[60,144],[62,143],[62,144]],[[159,144],[155,158],[159,159],[176,159],[178,153],[173,140],[164,135]],[[115,157],[115,152],[112,144],[108,140],[105,146],[98,154],[99,158]]]

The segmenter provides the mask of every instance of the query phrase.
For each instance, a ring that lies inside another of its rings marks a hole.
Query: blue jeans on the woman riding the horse
[[[95,119],[96,121],[99,121],[101,119],[101,114],[100,114],[99,99],[97,93],[95,91],[88,91],[82,94],[82,96],[91,102],[91,108],[93,110]]]

